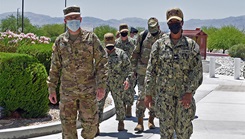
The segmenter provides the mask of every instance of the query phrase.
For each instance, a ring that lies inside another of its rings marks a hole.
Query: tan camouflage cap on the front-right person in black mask
[[[172,8],[166,12],[167,22],[171,19],[183,20],[183,12],[179,8]]]

